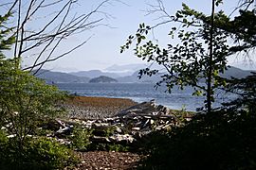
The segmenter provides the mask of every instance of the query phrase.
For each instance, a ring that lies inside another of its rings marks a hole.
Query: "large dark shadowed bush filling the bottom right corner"
[[[185,127],[158,134],[164,140],[148,145],[143,169],[255,169],[255,121],[244,110],[198,115]]]

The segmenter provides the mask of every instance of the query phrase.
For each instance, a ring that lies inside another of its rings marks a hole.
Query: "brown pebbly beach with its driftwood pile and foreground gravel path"
[[[63,105],[69,118],[59,122],[57,136],[75,125],[93,129],[95,144],[132,144],[153,130],[176,126],[174,112],[155,101],[136,103],[125,98],[74,96]],[[104,131],[111,129],[107,136]],[[82,159],[77,169],[136,169],[145,155],[133,152],[77,152]]]

